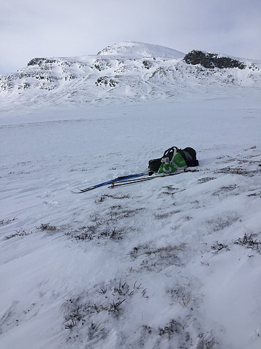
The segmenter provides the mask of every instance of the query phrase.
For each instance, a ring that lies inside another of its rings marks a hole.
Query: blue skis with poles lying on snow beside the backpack
[[[151,179],[173,176],[174,174],[181,174],[184,172],[198,172],[198,170],[185,169],[185,170],[182,170],[182,172],[173,172],[170,174],[153,174],[153,172],[129,174],[128,176],[117,177],[116,179],[111,179],[110,181],[104,181],[103,183],[96,184],[95,186],[89,186],[88,188],[79,189],[79,191],[72,191],[72,193],[76,193],[76,194],[86,193],[86,191],[92,191],[95,188],[100,188],[101,186],[107,186],[107,185],[109,185],[109,188],[114,188],[116,186],[125,186],[126,184],[134,184],[141,181],[150,181]],[[140,177],[143,177],[143,178],[140,178]]]

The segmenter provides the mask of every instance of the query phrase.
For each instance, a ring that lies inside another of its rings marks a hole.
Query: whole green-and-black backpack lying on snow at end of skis
[[[198,166],[198,160],[196,159],[196,150],[191,147],[184,149],[171,147],[164,151],[161,158],[149,161],[150,171],[159,173],[171,173],[194,166]]]

